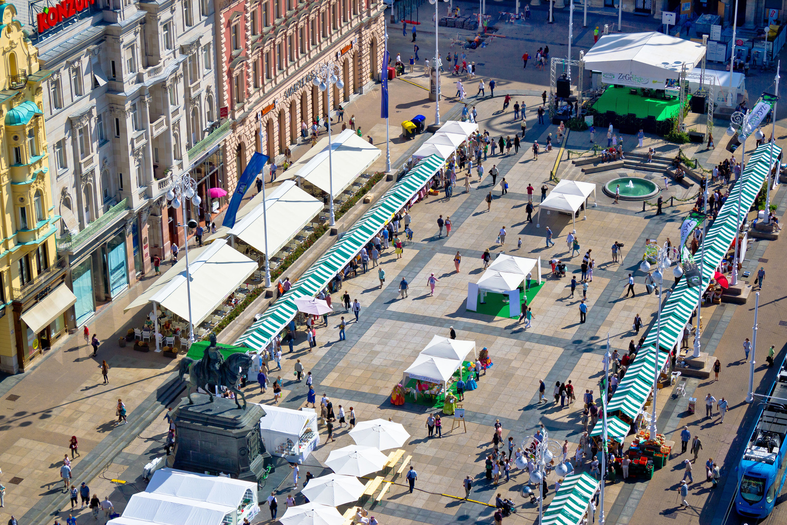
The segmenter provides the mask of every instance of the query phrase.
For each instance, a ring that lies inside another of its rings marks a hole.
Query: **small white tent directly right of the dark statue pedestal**
[[[260,437],[268,453],[300,463],[320,443],[315,412],[286,409],[276,405],[261,406],[265,415],[260,419]],[[304,434],[308,434],[310,438],[301,443],[301,435]]]

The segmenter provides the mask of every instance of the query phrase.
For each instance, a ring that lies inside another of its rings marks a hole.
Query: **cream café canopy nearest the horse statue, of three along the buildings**
[[[182,271],[175,275],[170,275],[170,272],[162,275],[156,283],[132,301],[124,312],[150,301],[188,320],[185,259],[186,257],[183,257]],[[226,239],[212,242],[201,250],[197,257],[190,254],[192,323],[196,326],[205,320],[205,317],[216,310],[224,299],[256,270],[257,262],[227,245]]]

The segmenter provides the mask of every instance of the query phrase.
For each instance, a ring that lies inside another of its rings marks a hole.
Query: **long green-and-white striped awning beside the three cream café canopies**
[[[380,200],[371,207],[294,283],[286,294],[275,301],[263,316],[252,324],[238,338],[236,345],[261,350],[281,332],[297,313],[296,298],[314,297],[320,293],[349,261],[360,252],[371,238],[412,199],[429,179],[431,179],[444,160],[437,155],[424,158],[399,182],[393,185]]]

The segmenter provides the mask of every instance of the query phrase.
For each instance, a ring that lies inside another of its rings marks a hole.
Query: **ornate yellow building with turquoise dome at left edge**
[[[0,370],[24,372],[65,333],[76,298],[57,260],[38,50],[0,0]]]

